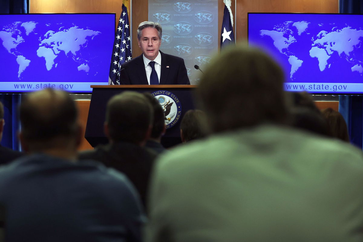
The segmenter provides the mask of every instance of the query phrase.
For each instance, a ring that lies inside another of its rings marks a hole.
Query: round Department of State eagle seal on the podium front
[[[158,100],[163,108],[166,128],[171,128],[178,123],[181,116],[181,103],[178,97],[165,90],[154,91],[151,95]]]

